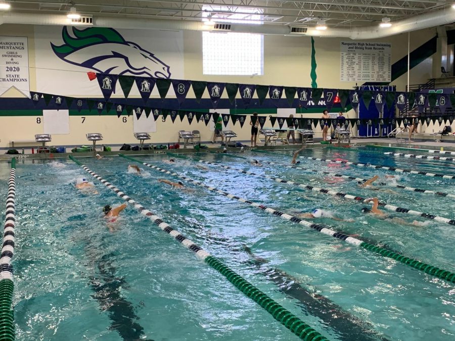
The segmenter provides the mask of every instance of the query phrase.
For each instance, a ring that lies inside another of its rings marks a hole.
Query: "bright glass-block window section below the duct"
[[[202,32],[204,75],[263,75],[264,36]]]

